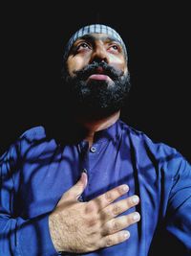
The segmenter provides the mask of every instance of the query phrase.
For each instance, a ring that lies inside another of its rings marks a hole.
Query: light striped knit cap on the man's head
[[[126,49],[126,46],[125,46],[122,38],[120,37],[120,35],[118,35],[117,32],[114,29],[112,29],[111,27],[108,27],[103,24],[88,25],[88,26],[85,26],[85,27],[79,29],[77,32],[75,32],[74,35],[72,35],[72,37],[69,39],[69,41],[66,45],[64,59],[68,58],[71,47],[73,46],[76,39],[78,39],[79,37],[81,37],[83,35],[96,34],[96,33],[111,35],[115,39],[117,39],[117,41],[121,44],[121,46],[123,48],[126,60],[128,59],[127,58],[127,49]]]

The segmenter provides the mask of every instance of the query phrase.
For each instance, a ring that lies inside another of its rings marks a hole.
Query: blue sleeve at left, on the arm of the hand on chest
[[[57,255],[49,232],[48,213],[32,220],[16,216],[13,210],[15,187],[13,173],[17,172],[19,145],[0,158],[0,255]]]

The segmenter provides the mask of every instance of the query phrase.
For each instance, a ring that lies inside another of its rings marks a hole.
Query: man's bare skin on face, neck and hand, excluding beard
[[[74,47],[67,60],[70,76],[94,60],[104,60],[120,69],[128,71],[127,62],[121,45],[104,34],[84,36],[74,42]],[[106,80],[113,84],[111,78],[97,70],[95,76],[88,78]],[[87,120],[79,117],[78,122],[88,129],[86,140],[91,146],[97,130],[108,128],[119,117],[119,111],[100,120]],[[67,191],[55,206],[49,217],[50,234],[57,251],[86,253],[99,248],[122,243],[129,239],[127,230],[131,224],[140,220],[138,212],[124,216],[119,214],[138,204],[138,196],[117,200],[129,190],[127,185],[120,185],[88,202],[79,202],[78,198],[87,186],[87,175],[83,173],[78,182]],[[77,213],[77,214],[76,214]]]

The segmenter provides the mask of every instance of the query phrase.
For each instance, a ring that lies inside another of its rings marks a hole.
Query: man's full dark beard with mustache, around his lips
[[[109,81],[88,80],[96,69],[101,67]],[[94,62],[75,71],[71,77],[68,71],[63,73],[63,87],[67,97],[67,108],[73,111],[74,117],[100,119],[112,115],[124,105],[131,87],[130,74],[109,66],[105,62]]]

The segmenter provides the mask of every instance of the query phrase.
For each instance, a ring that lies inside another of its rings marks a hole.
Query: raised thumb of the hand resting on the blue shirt
[[[64,193],[59,203],[61,203],[63,200],[66,200],[66,199],[77,200],[81,196],[81,194],[84,192],[87,186],[87,183],[88,183],[88,177],[85,173],[82,173],[77,183],[71,189],[69,189],[67,192]]]

